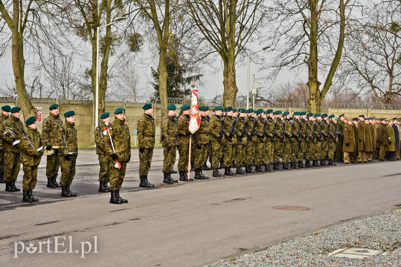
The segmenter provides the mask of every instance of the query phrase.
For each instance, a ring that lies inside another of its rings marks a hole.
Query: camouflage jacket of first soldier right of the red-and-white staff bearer
[[[156,124],[153,116],[143,113],[143,116],[138,120],[136,125],[138,130],[138,146],[153,148],[155,141],[154,134],[156,132]]]

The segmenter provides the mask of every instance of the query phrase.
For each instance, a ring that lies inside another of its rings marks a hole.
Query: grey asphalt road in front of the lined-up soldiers
[[[71,185],[76,198],[46,187],[45,158],[34,190],[39,202],[24,203],[22,192],[6,192],[0,185],[3,266],[201,265],[401,204],[400,161],[211,177],[170,186],[161,183],[162,150],[155,149],[148,179],[156,187],[138,187],[138,152],[133,150],[120,191],[129,202],[113,205],[109,193],[97,191],[95,152],[79,153]],[[22,169],[20,187],[21,180]],[[274,208],[278,205],[309,209]]]

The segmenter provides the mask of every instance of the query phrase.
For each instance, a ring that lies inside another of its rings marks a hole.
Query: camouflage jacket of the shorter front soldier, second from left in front
[[[39,152],[36,151],[39,147],[43,145],[42,136],[37,129],[27,127],[25,130],[27,136],[23,133],[21,135],[21,163],[26,166],[37,166],[41,162],[41,157],[45,147],[43,147]]]

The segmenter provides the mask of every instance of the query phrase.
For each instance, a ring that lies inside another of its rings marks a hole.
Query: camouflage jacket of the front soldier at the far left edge
[[[0,129],[0,137],[3,139],[2,147],[5,152],[21,153],[20,143],[13,145],[13,142],[20,138],[23,127],[24,124],[22,121],[15,116],[10,116],[3,121]]]

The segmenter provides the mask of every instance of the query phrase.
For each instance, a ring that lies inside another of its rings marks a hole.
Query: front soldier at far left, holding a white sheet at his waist
[[[6,191],[21,191],[15,185],[18,172],[20,171],[21,148],[20,136],[24,124],[20,120],[21,107],[15,106],[10,109],[11,116],[3,121],[0,129],[0,137],[3,139],[4,150],[4,180],[6,182]]]

